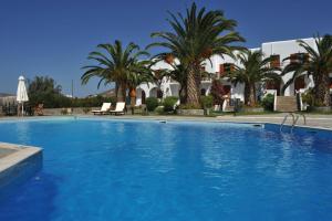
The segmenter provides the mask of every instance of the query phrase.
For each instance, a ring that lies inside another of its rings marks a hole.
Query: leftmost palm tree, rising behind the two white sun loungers
[[[124,102],[129,78],[139,74],[139,71],[144,69],[139,66],[144,63],[138,62],[138,59],[149,54],[141,51],[139,46],[134,43],[123,49],[118,40],[114,44],[98,44],[97,49],[98,51],[91,52],[87,56],[97,64],[83,67],[87,71],[81,77],[82,84],[86,84],[92,77],[100,78],[97,87],[102,83],[105,85],[115,83],[117,101]]]

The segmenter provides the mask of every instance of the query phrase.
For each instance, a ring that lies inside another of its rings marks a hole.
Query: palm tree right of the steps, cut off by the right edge
[[[283,70],[282,75],[293,72],[292,77],[284,84],[282,91],[292,84],[300,75],[312,75],[314,82],[314,99],[317,104],[330,106],[330,78],[332,73],[332,35],[325,34],[314,38],[315,45],[310,46],[307,42],[298,40],[299,45],[308,53],[307,61],[290,62]],[[288,56],[283,61],[291,61]]]

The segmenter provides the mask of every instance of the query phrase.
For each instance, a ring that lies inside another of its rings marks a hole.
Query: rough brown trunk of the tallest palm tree
[[[189,66],[187,71],[187,98],[186,104],[193,107],[199,107],[199,92],[197,88],[197,77],[194,66]]]

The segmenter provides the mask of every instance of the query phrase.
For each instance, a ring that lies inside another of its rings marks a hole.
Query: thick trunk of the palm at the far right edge
[[[314,77],[314,99],[317,105],[330,106],[330,78],[329,74]]]

